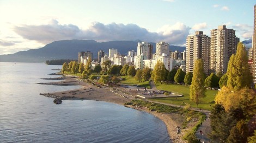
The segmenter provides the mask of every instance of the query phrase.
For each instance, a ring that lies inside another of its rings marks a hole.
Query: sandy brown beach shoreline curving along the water
[[[57,85],[57,86],[71,86],[71,85],[80,85],[82,86],[79,89],[74,90],[65,90],[63,92],[54,92],[54,93],[40,93],[40,95],[47,96],[49,98],[55,98],[55,99],[61,99],[61,100],[95,100],[95,101],[105,101],[105,102],[111,102],[116,103],[119,105],[123,105],[126,102],[130,102],[133,99],[136,99],[133,95],[128,95],[124,92],[121,92],[121,90],[117,90],[112,87],[96,87],[90,83],[86,83],[84,81],[80,81],[77,79],[77,77],[69,76],[69,75],[63,75],[64,81],[57,81],[57,82],[46,82],[46,83],[38,83],[42,85]],[[61,102],[60,102],[61,103]],[[133,109],[136,109],[138,111],[143,111],[150,113],[160,120],[164,122],[166,125],[167,133],[170,139],[170,142],[186,142],[182,140],[182,136],[185,134],[183,129],[181,129],[181,132],[177,134],[176,127],[181,127],[182,123],[178,123],[173,119],[173,116],[175,116],[174,113],[157,113],[155,111],[149,111],[145,107],[136,107],[136,106],[125,106],[130,107]],[[176,118],[178,119],[178,118]]]

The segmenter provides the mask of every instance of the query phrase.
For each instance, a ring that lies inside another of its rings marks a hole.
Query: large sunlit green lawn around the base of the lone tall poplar
[[[190,101],[189,86],[163,83],[162,85],[156,85],[156,87],[159,90],[167,90],[169,92],[182,93],[183,97],[177,98],[177,99],[176,98],[155,98],[150,100],[164,102],[164,103],[173,103],[175,105],[185,105],[185,103],[188,103],[191,105],[191,107],[197,107],[196,103]],[[214,99],[217,92],[218,90],[206,90],[206,97],[203,98],[201,102],[198,104],[198,108],[211,109],[212,106],[215,105]]]

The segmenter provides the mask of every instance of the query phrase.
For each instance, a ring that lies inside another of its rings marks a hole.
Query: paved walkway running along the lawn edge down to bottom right
[[[150,81],[150,86],[152,89],[154,90],[157,90],[156,89],[156,86],[154,84],[153,81]],[[179,106],[179,105],[174,105],[174,104],[170,104],[170,103],[163,103],[163,102],[157,102],[157,101],[151,101],[151,100],[148,100],[148,99],[145,99],[149,102],[155,102],[155,103],[160,103],[160,104],[163,104],[163,105],[168,105],[168,106],[174,106],[174,107],[181,107],[181,108],[184,108],[184,106]],[[206,110],[202,110],[202,109],[199,109],[199,108],[191,108],[191,110],[193,111],[198,111],[198,112],[202,112],[206,115],[206,119],[205,121],[202,123],[202,125],[197,129],[197,132],[196,132],[196,136],[197,138],[202,142],[210,142],[210,139],[209,139],[209,135],[211,133],[211,125],[210,125],[210,118],[209,118],[209,115],[210,115],[210,111],[206,111]],[[203,132],[203,134],[200,134],[200,131]]]

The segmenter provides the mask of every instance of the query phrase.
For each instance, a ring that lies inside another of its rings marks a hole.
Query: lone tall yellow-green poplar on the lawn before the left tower
[[[204,87],[204,65],[203,60],[196,60],[193,69],[193,78],[190,86],[190,100],[198,103],[201,98],[205,98],[206,89]]]

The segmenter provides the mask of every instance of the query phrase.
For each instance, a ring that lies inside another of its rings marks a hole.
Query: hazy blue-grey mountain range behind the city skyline
[[[153,44],[153,53],[156,50],[156,43]],[[138,41],[109,41],[97,42],[94,40],[62,40],[54,41],[39,49],[19,51],[14,54],[0,55],[0,62],[45,62],[46,60],[57,59],[78,59],[78,52],[91,51],[93,59],[97,59],[99,50],[108,53],[108,49],[118,49],[118,53],[127,55],[128,51],[137,51]],[[171,51],[184,51],[186,47],[170,46]]]

